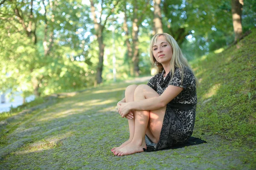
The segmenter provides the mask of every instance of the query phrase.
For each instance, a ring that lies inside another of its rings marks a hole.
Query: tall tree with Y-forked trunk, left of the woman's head
[[[100,3],[100,6],[101,6],[99,9],[99,18],[98,18],[98,16],[96,15],[97,11],[94,5],[94,0],[90,0],[95,35],[99,44],[99,63],[98,63],[97,74],[96,74],[97,84],[100,84],[102,82],[103,57],[104,57],[104,48],[105,48],[105,44],[103,41],[103,37],[104,37],[103,31],[105,29],[108,18],[111,16],[111,14],[113,14],[119,2],[120,1],[114,1],[114,4],[107,1],[104,2],[103,0],[98,2]]]

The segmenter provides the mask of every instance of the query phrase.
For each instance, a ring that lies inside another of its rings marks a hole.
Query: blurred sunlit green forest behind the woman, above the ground
[[[256,26],[256,0],[0,0],[0,91],[46,96],[149,75],[149,42],[188,60]]]

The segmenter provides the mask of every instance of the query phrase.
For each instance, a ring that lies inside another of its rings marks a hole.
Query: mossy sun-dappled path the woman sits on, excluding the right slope
[[[7,122],[1,129],[0,169],[256,169],[253,147],[199,133],[196,123],[193,136],[205,144],[113,156],[111,148],[128,138],[127,120],[115,106],[130,83],[76,93]]]

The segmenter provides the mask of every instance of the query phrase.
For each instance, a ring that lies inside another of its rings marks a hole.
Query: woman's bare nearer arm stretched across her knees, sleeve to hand
[[[166,90],[158,97],[153,97],[149,99],[144,99],[136,102],[129,103],[121,103],[119,105],[119,114],[124,117],[131,110],[139,110],[139,111],[154,111],[160,109],[167,105],[167,103],[171,102],[183,88],[169,85]]]

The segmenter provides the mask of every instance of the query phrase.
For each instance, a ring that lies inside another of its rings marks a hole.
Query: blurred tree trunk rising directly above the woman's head
[[[154,34],[163,33],[163,24],[161,16],[160,3],[161,0],[153,0],[154,2]]]

